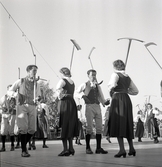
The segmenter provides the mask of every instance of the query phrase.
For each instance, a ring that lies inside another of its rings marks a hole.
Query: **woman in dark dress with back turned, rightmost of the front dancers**
[[[132,102],[128,94],[137,95],[138,89],[125,73],[125,64],[122,60],[113,62],[114,73],[111,75],[108,89],[112,97],[110,105],[110,117],[108,132],[110,137],[117,137],[119,152],[114,156],[119,158],[126,157],[123,138],[126,138],[129,144],[128,155],[136,155],[133,146],[133,113]]]

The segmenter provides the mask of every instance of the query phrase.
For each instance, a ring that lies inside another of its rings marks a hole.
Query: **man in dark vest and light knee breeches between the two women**
[[[102,138],[102,113],[100,108],[100,103],[103,106],[106,104],[106,100],[103,96],[101,87],[97,83],[96,79],[96,71],[88,70],[87,75],[89,81],[81,84],[75,92],[76,98],[84,99],[86,105],[86,121],[87,121],[87,129],[86,129],[86,154],[93,154],[93,151],[90,147],[90,139],[91,134],[93,132],[93,120],[95,120],[96,125],[96,154],[107,154],[101,147],[101,138]]]

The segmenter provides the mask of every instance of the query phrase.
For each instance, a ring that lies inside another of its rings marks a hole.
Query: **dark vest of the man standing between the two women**
[[[100,104],[98,100],[99,92],[97,86],[91,87],[90,81],[86,82],[86,88],[84,90],[86,96],[90,100],[91,104]]]

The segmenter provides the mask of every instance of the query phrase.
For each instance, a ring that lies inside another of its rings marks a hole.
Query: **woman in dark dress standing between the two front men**
[[[56,86],[58,95],[58,112],[60,114],[59,126],[63,151],[58,156],[74,155],[73,137],[78,136],[77,106],[73,98],[75,85],[71,79],[70,70],[66,67],[60,69],[62,79]],[[68,147],[68,143],[69,147]]]

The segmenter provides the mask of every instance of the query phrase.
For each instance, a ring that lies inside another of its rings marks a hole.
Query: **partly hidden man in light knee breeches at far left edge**
[[[11,85],[7,86],[9,89]],[[6,136],[10,135],[11,140],[11,149],[10,151],[14,151],[14,126],[16,119],[16,99],[13,97],[9,97],[8,95],[4,95],[0,99],[0,108],[2,113],[1,120],[1,140],[2,140],[2,148],[0,152],[6,151],[5,142]]]

